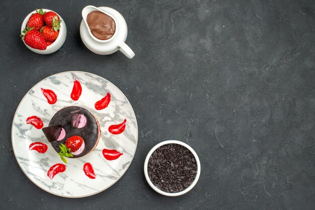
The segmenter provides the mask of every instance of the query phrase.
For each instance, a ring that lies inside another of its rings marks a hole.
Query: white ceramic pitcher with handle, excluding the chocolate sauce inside
[[[97,39],[90,31],[87,23],[88,14],[93,11],[100,11],[110,16],[116,24],[114,35],[107,40]],[[80,25],[80,35],[83,43],[89,50],[100,55],[109,55],[117,50],[121,51],[128,58],[133,58],[134,52],[125,44],[127,38],[127,24],[124,17],[116,10],[109,7],[87,6],[82,10],[83,20]]]

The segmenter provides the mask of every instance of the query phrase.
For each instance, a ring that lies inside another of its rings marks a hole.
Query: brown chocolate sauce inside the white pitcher
[[[88,14],[87,23],[90,31],[97,39],[108,40],[116,31],[114,19],[100,11],[93,11]]]

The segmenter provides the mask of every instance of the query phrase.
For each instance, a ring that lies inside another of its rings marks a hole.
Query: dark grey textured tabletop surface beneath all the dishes
[[[82,9],[108,6],[126,19],[136,56],[100,56],[82,43]],[[38,55],[19,39],[36,8],[67,25],[63,47]],[[315,3],[305,1],[1,1],[0,206],[2,209],[313,209],[315,197]],[[62,71],[113,82],[138,120],[125,175],[97,195],[45,192],[20,169],[11,124],[24,94]],[[199,154],[197,185],[180,197],[155,193],[143,162],[175,139]]]

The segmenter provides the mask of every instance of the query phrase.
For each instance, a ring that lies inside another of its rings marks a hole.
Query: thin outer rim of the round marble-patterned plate
[[[50,75],[50,76],[47,76],[47,77],[45,77],[44,79],[42,79],[42,80],[40,80],[39,82],[37,82],[35,85],[33,85],[33,86],[26,92],[26,94],[23,96],[23,98],[21,99],[21,101],[20,101],[20,103],[19,103],[19,105],[18,105],[18,107],[17,107],[17,109],[16,109],[16,111],[15,111],[15,113],[14,113],[14,117],[13,117],[13,121],[12,121],[12,126],[11,126],[11,143],[12,143],[12,148],[13,148],[14,157],[15,157],[16,161],[18,162],[18,165],[20,166],[20,168],[21,168],[21,170],[23,171],[23,173],[27,176],[27,178],[28,178],[29,180],[31,180],[36,186],[38,186],[38,187],[41,188],[42,190],[44,190],[44,191],[46,191],[46,192],[49,192],[50,194],[53,194],[53,195],[57,195],[57,196],[60,196],[60,197],[67,197],[67,198],[89,197],[89,196],[98,194],[98,193],[100,193],[100,192],[103,192],[103,191],[105,191],[106,189],[108,189],[108,188],[110,188],[111,186],[113,186],[113,185],[126,173],[126,171],[128,170],[129,166],[131,165],[131,162],[132,162],[132,160],[133,160],[133,158],[134,158],[134,155],[135,155],[135,153],[136,153],[137,144],[138,144],[138,124],[137,124],[137,116],[136,116],[135,113],[134,113],[134,110],[133,110],[133,108],[132,108],[132,106],[131,106],[130,101],[128,100],[128,98],[126,97],[126,95],[125,95],[115,84],[113,84],[111,81],[105,79],[105,80],[108,81],[110,84],[112,84],[114,87],[116,87],[116,88],[125,96],[127,102],[130,104],[132,113],[133,113],[133,115],[134,115],[134,117],[135,117],[135,125],[136,125],[136,143],[135,143],[135,150],[134,150],[134,152],[133,152],[133,154],[132,154],[130,164],[127,166],[127,168],[125,169],[125,171],[121,174],[121,176],[119,176],[112,184],[110,184],[110,185],[107,186],[106,188],[104,188],[104,189],[102,189],[102,190],[99,190],[99,191],[97,191],[97,192],[94,192],[94,193],[90,193],[90,194],[87,194],[87,195],[81,195],[81,196],[60,195],[60,194],[56,194],[56,193],[54,193],[54,192],[48,191],[48,190],[44,189],[43,187],[41,187],[40,185],[38,185],[35,181],[33,181],[33,179],[31,179],[31,178],[28,176],[28,174],[24,171],[23,167],[21,166],[20,162],[19,162],[18,159],[17,159],[17,155],[16,155],[16,152],[15,152],[14,144],[13,144],[13,127],[14,127],[14,121],[15,121],[15,118],[16,118],[16,116],[17,116],[17,112],[18,112],[18,110],[19,110],[19,108],[20,108],[20,106],[21,106],[21,103],[23,102],[23,100],[25,99],[25,97],[29,94],[29,92],[30,92],[37,84],[39,84],[40,82],[44,81],[45,79],[47,79],[47,78],[49,78],[49,77],[51,77],[51,76],[58,75],[58,74],[63,74],[63,73],[75,73],[75,72],[76,72],[76,73],[88,73],[88,74],[92,74],[92,75],[94,75],[94,76],[101,77],[101,78],[105,79],[105,78],[102,77],[102,76],[99,76],[99,75],[97,75],[97,74],[90,73],[90,72],[87,72],[87,71],[63,71],[63,72],[59,72],[59,73],[56,73],[56,74],[52,74],[52,75]]]

